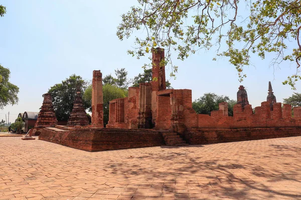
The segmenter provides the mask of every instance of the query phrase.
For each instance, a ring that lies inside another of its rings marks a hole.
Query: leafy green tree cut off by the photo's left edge
[[[0,109],[4,106],[18,103],[19,87],[9,81],[11,71],[0,65]]]

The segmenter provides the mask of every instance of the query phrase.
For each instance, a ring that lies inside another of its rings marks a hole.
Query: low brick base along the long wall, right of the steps
[[[186,132],[184,139],[189,144],[221,143],[254,139],[300,136],[301,127],[273,128],[200,128]]]

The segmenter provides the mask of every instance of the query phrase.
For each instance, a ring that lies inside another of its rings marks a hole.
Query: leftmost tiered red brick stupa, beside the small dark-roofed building
[[[43,95],[43,104],[39,112],[35,127],[30,132],[31,136],[39,135],[41,133],[41,129],[43,129],[44,127],[55,127],[58,122],[53,109],[51,94],[45,93]]]

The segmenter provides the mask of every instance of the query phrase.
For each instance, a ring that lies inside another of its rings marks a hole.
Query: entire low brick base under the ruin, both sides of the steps
[[[187,145],[301,136],[301,127],[200,128],[182,134],[152,129],[67,127],[40,130],[39,139],[86,151],[117,150],[162,145]],[[178,143],[175,143],[178,142]]]

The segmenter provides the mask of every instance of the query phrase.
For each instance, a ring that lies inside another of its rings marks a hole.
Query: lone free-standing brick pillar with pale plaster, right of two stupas
[[[103,127],[102,73],[93,71],[92,79],[92,125]]]

